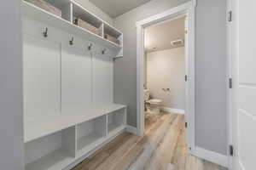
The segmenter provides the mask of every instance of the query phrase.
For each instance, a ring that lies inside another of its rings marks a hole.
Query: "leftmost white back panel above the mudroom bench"
[[[23,36],[24,117],[59,115],[61,111],[61,44]]]

